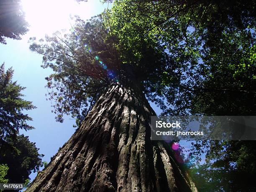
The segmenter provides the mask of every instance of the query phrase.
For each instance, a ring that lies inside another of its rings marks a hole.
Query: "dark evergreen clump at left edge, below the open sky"
[[[42,166],[39,148],[19,135],[21,129],[33,129],[27,121],[32,120],[24,110],[36,108],[24,100],[21,92],[26,88],[13,82],[13,69],[5,71],[0,66],[0,180],[1,182],[25,183],[31,172]]]

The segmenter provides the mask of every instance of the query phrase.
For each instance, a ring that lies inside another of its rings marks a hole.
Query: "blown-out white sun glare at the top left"
[[[88,19],[93,15],[92,1],[77,3],[75,0],[21,0],[30,35],[42,37],[61,29],[69,29],[70,16]]]

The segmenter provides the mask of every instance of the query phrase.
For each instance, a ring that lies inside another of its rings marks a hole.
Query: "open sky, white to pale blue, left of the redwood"
[[[36,142],[36,147],[40,148],[39,153],[45,155],[43,161],[49,162],[51,156],[54,156],[59,147],[74,133],[75,128],[72,125],[75,124],[75,120],[66,117],[64,123],[55,121],[55,114],[51,113],[51,102],[46,101],[47,89],[44,87],[44,78],[51,74],[51,70],[40,67],[42,57],[28,49],[28,39],[33,36],[43,38],[45,33],[51,34],[64,28],[69,30],[72,22],[69,19],[70,15],[76,14],[87,20],[100,14],[105,8],[110,8],[111,5],[102,4],[100,0],[88,0],[79,4],[74,0],[67,0],[65,3],[61,0],[22,0],[22,3],[26,20],[30,24],[29,31],[22,36],[22,40],[6,39],[6,45],[0,44],[0,64],[5,62],[5,69],[13,67],[13,81],[27,87],[23,91],[24,99],[32,101],[37,107],[27,112],[33,118],[33,122],[29,124],[36,129],[28,132],[21,130],[20,134],[29,136],[31,142]],[[156,114],[161,113],[156,105],[150,104]],[[30,177],[33,180],[36,173],[32,173]]]

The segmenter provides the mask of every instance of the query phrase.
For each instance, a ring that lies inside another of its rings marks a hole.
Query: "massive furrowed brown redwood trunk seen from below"
[[[151,115],[137,86],[113,84],[27,192],[196,191],[169,148],[151,141]]]

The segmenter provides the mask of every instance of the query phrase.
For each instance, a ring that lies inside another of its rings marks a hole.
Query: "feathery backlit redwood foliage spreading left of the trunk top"
[[[63,122],[63,115],[71,114],[79,125],[110,83],[107,71],[95,56],[104,58],[108,70],[116,67],[116,59],[100,16],[90,22],[77,17],[75,22],[70,34],[56,32],[53,37],[46,36],[37,43],[35,38],[31,38],[30,49],[43,55],[42,67],[50,67],[54,71],[46,77],[46,87],[50,90],[48,99],[54,107],[52,113],[56,114],[56,120]]]

